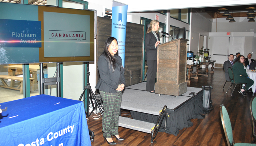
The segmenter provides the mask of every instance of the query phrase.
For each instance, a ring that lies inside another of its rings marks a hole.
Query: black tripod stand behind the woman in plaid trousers
[[[90,86],[90,82],[89,82],[89,76],[90,76],[90,72],[89,72],[89,62],[87,62],[87,84],[86,86],[84,86],[84,89],[83,89],[83,92],[79,98],[79,101],[82,99],[83,95],[84,95],[84,92],[85,90],[87,89],[87,117],[89,117],[91,114],[89,114],[89,105],[90,105],[90,102],[91,102],[91,105],[93,106],[93,110],[91,111],[91,113],[96,110],[97,106],[99,108],[99,111],[101,112],[101,114],[103,115],[103,112],[101,110],[101,108],[99,107],[99,104],[97,102],[97,99],[96,97],[94,96],[93,94],[93,91],[91,90],[91,86]],[[93,99],[96,103],[96,105],[93,104]]]

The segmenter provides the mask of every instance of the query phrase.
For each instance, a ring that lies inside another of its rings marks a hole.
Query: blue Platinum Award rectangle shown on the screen
[[[0,19],[2,47],[41,47],[41,22]]]

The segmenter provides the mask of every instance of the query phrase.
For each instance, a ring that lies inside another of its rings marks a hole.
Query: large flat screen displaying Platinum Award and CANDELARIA
[[[0,2],[0,64],[94,61],[94,11]]]

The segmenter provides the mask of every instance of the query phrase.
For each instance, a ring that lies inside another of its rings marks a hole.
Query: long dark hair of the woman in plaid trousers
[[[113,72],[114,72],[115,69],[116,69],[116,58],[115,58],[113,55],[111,55],[111,54],[109,53],[108,47],[109,47],[109,45],[112,43],[112,41],[114,41],[114,40],[116,40],[116,42],[117,42],[117,39],[114,38],[114,37],[109,37],[109,38],[106,40],[106,42],[105,42],[105,47],[104,47],[104,51],[103,51],[103,53],[102,53],[102,54],[104,54],[104,55],[108,58],[108,62],[109,62],[110,64],[112,64],[112,70],[113,70]],[[118,42],[117,42],[117,43],[118,43]],[[118,55],[118,49],[117,49],[116,55]],[[110,66],[109,66],[109,68],[110,68]]]

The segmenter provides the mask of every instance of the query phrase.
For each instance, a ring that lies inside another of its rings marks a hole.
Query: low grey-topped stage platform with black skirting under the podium
[[[133,119],[145,122],[156,123],[159,112],[164,105],[167,105],[166,127],[160,129],[161,132],[177,135],[184,127],[191,127],[193,123],[190,119],[203,119],[203,89],[187,87],[187,92],[180,96],[158,95],[147,92],[146,82],[131,85],[125,88],[122,95],[121,109],[130,110]],[[195,92],[192,96],[189,93]],[[162,123],[161,127],[164,127]]]

